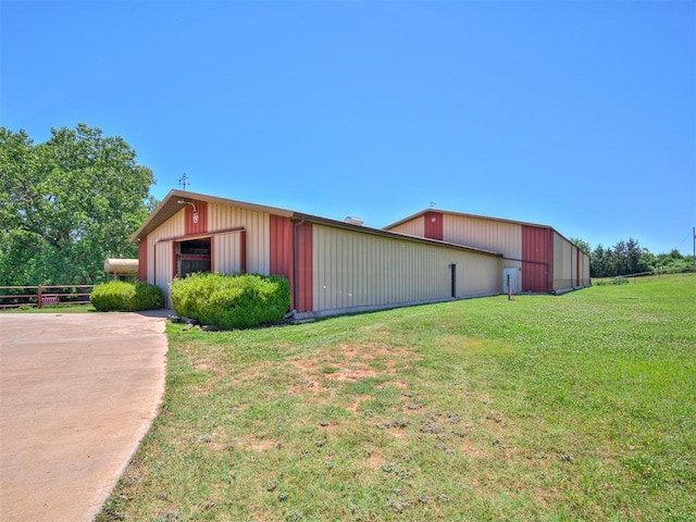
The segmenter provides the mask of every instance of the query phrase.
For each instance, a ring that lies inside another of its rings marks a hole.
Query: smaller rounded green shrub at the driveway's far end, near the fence
[[[162,290],[158,286],[125,281],[112,281],[96,286],[91,290],[89,301],[100,312],[136,312],[164,306]]]

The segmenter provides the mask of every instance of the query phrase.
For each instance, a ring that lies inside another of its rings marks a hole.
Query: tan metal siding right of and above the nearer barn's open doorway
[[[243,226],[246,237],[247,272],[270,274],[270,214],[254,210],[239,209],[227,204],[208,204],[208,231],[223,231],[235,226]],[[236,257],[235,257],[236,256]],[[216,263],[214,266],[234,266],[238,252],[226,250],[215,245]],[[217,262],[220,264],[217,264]]]

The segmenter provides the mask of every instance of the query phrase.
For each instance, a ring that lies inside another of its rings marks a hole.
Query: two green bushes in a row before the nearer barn
[[[198,273],[174,279],[170,288],[177,314],[223,330],[278,322],[290,306],[289,283],[276,275]],[[95,287],[90,301],[99,311],[135,312],[164,306],[159,287],[122,281]]]

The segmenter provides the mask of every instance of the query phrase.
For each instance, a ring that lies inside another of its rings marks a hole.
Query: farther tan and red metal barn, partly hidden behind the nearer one
[[[589,256],[550,226],[424,210],[384,228],[502,254],[500,290],[562,293],[589,286]]]

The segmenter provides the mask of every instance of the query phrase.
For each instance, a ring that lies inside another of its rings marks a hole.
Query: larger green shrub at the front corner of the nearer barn
[[[290,306],[290,285],[277,275],[191,274],[170,285],[174,311],[223,330],[276,323]]]

